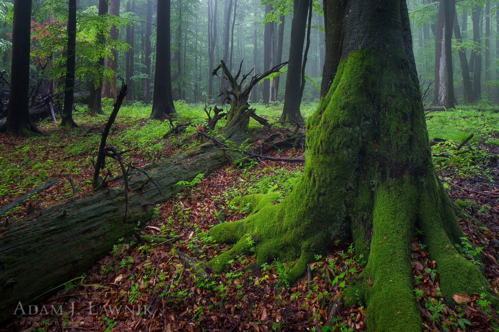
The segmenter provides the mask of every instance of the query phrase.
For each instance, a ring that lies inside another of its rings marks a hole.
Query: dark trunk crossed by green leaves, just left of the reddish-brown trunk
[[[107,2],[106,0],[99,0],[99,15],[107,14]],[[106,42],[106,31],[99,29],[97,31],[97,48],[104,49]],[[90,85],[90,96],[88,97],[88,110],[91,113],[105,114],[102,111],[102,79],[104,72],[104,62],[103,56],[99,58],[96,65],[97,75],[94,77],[92,84]]]

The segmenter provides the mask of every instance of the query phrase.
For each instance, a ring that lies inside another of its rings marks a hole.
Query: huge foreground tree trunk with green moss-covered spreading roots
[[[327,0],[324,7],[326,19],[333,9],[336,19],[326,23],[326,44],[341,47],[326,54],[334,79],[307,122],[303,175],[280,204],[272,205],[273,194],[245,198],[253,214],[213,227],[215,241],[235,245],[210,265],[222,271],[250,254],[251,236],[257,263],[298,258],[288,272],[295,282],[334,237],[352,239],[369,259],[345,297],[353,302],[358,291],[368,330],[421,331],[410,260],[415,227],[447,301],[489,287],[454,247],[463,232],[432,165],[407,4]]]

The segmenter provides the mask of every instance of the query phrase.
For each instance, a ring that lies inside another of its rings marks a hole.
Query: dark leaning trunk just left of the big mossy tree
[[[300,113],[301,65],[309,3],[310,0],[294,0],[286,91],[284,95],[284,108],[281,114],[282,121],[303,121]]]

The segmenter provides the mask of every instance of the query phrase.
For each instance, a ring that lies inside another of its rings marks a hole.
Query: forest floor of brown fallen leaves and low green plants
[[[204,122],[204,105],[176,106],[182,116],[179,122],[186,118],[194,124]],[[306,105],[302,112],[308,116],[315,107]],[[108,103],[107,112],[109,108]],[[257,109],[269,119],[280,114],[278,107]],[[127,161],[144,165],[199,144],[191,128],[163,138],[169,124],[146,122],[148,112],[138,103],[125,105],[113,126],[108,142],[121,150],[134,149],[125,155]],[[433,111],[427,119],[435,166],[450,197],[467,215],[459,219],[466,237],[456,246],[483,268],[491,288],[499,294],[499,113],[484,105]],[[0,206],[49,179],[61,180],[3,215],[0,232],[7,220],[15,222],[64,198],[88,194],[91,159],[105,117],[80,112],[76,121],[80,127],[73,131],[42,122],[39,127],[46,134],[41,137],[0,134]],[[262,137],[272,133],[255,124],[250,128]],[[455,148],[470,134],[473,138],[459,150],[470,151],[457,154]],[[299,146],[281,149],[261,142],[253,142],[250,148],[271,156],[303,158]],[[140,228],[141,234],[170,235],[172,240],[139,244],[135,236],[122,238],[82,278],[68,281],[38,306],[48,313],[40,310],[18,316],[0,326],[0,331],[365,331],[362,304],[331,312],[349,279],[367,262],[367,257],[355,254],[351,243],[332,241],[327,255],[317,256],[296,285],[285,281],[290,262],[274,261],[251,269],[254,257],[240,256],[220,275],[205,267],[210,275],[205,280],[174,255],[178,250],[202,265],[221,253],[224,245],[205,244],[197,234],[219,222],[244,218],[248,207],[231,204],[237,196],[270,191],[287,195],[302,167],[245,159],[184,183],[182,192],[157,206],[154,218]],[[118,165],[108,163],[108,171],[111,176],[118,174]],[[418,233],[415,229],[412,266],[423,330],[496,331],[499,316],[481,294],[456,295],[457,306],[445,303],[438,266]]]

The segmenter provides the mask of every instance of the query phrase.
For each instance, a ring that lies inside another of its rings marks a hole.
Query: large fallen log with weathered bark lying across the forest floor
[[[179,188],[174,185],[178,181],[191,181],[226,162],[222,150],[206,143],[161,164],[145,167],[161,193],[147,176],[130,172],[126,221],[123,188],[112,187],[84,199],[69,199],[41,215],[1,228],[0,321],[14,317],[19,301],[28,305],[85,272],[119,238],[147,221],[157,204],[177,193]]]

